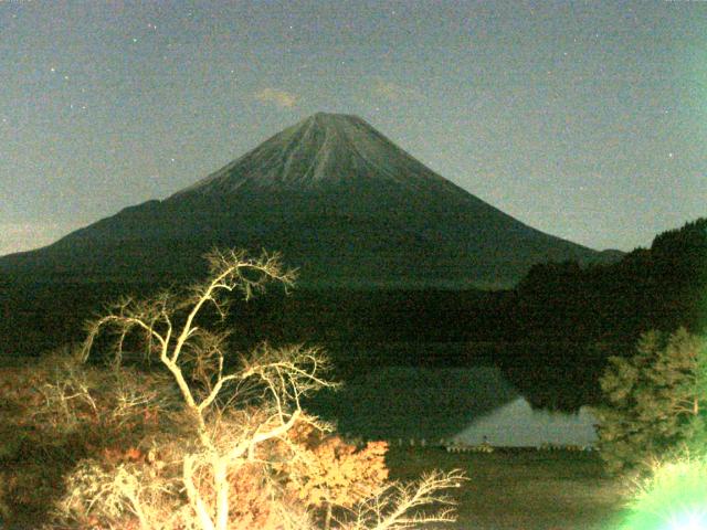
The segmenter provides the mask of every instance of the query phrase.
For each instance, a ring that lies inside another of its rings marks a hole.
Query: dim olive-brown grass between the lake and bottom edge
[[[468,530],[611,530],[619,526],[626,488],[605,476],[595,454],[497,449],[449,454],[437,447],[392,447],[391,478],[461,468],[469,477],[452,496],[458,520],[440,528]]]

